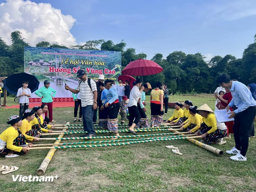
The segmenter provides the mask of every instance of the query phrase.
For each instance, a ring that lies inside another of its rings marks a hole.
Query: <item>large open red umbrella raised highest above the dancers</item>
[[[131,76],[143,76],[145,75],[154,75],[164,71],[160,65],[156,62],[147,59],[138,59],[133,62],[130,62],[122,71],[124,75],[131,75]]]

